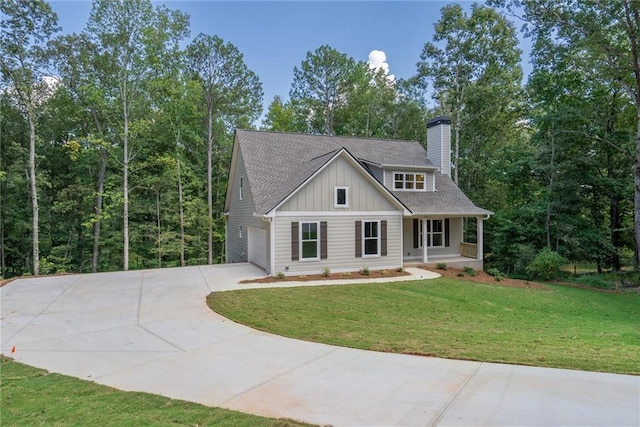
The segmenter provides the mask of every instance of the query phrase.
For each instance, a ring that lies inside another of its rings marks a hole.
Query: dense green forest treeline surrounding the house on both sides
[[[524,276],[549,249],[637,267],[637,0],[447,5],[408,79],[310,47],[264,116],[242,53],[191,38],[178,10],[95,0],[66,35],[46,2],[0,12],[3,277],[224,262],[235,128],[425,144],[437,115],[452,119],[454,180],[495,212],[488,268]],[[519,31],[532,40],[526,82]]]

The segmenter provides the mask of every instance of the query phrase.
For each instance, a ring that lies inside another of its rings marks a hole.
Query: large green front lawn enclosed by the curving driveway
[[[346,347],[640,374],[640,294],[440,278],[216,292],[216,312],[278,335]]]

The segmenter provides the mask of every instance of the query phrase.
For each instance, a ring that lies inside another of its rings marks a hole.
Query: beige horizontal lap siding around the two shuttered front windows
[[[387,255],[371,258],[356,257],[355,223],[356,221],[387,221]],[[291,223],[292,222],[327,222],[327,259],[313,261],[291,260]],[[402,213],[379,215],[375,212],[367,214],[276,216],[275,232],[275,266],[272,274],[320,274],[325,268],[333,273],[359,271],[363,267],[370,270],[391,270],[402,265],[401,234]]]

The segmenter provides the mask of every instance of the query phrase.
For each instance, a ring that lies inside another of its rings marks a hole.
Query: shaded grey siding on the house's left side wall
[[[243,180],[243,197],[240,200],[240,178]],[[255,203],[247,179],[247,171],[242,157],[242,151],[238,147],[236,170],[231,185],[231,209],[227,218],[227,262],[247,262],[249,249],[249,227],[267,230],[267,263],[270,258],[269,223],[253,215]],[[240,225],[242,225],[242,237],[240,237]],[[267,271],[269,271],[267,266]]]

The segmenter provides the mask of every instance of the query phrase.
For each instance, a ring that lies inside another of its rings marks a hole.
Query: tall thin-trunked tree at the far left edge
[[[57,16],[42,0],[0,2],[2,78],[29,123],[29,185],[32,205],[33,274],[40,272],[38,185],[36,179],[36,110],[47,90],[43,81],[48,61],[47,44],[59,30]]]

